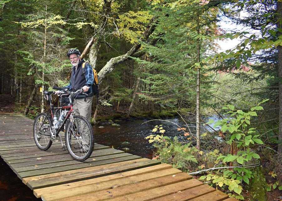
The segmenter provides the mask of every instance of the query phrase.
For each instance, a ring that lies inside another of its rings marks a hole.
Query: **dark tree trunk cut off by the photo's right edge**
[[[280,36],[282,33],[282,22],[281,22],[281,16],[282,16],[282,2],[277,1],[277,32]],[[278,142],[278,153],[282,153],[282,46],[278,45],[278,77],[279,77],[279,142]]]

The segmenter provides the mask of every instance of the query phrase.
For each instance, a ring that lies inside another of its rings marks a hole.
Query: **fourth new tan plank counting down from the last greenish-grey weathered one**
[[[169,195],[172,193],[176,193],[178,191],[183,191],[189,188],[194,188],[196,186],[203,185],[202,182],[197,179],[189,179],[183,182],[178,182],[170,185],[165,185],[159,188],[153,188],[150,190],[145,190],[138,193],[132,193],[128,195],[124,195],[122,197],[117,197],[112,200],[119,201],[142,201],[142,200],[154,200],[164,195]],[[109,193],[110,194],[110,193]],[[87,195],[87,194],[86,194]],[[82,197],[82,196],[81,196]],[[84,199],[85,196],[83,196]],[[206,201],[210,201],[207,199]]]

